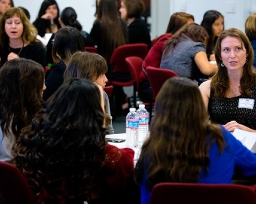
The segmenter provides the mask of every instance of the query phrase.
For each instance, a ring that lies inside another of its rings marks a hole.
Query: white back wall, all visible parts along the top
[[[13,0],[15,6],[27,8],[31,22],[36,19],[40,0]],[[56,0],[60,11],[73,7],[83,30],[90,32],[95,20],[95,0]],[[225,28],[236,27],[244,31],[244,23],[251,12],[256,12],[256,0],[151,0],[151,36],[155,38],[165,33],[170,15],[174,12],[187,12],[195,16],[195,22],[201,23],[205,11],[215,9],[224,15]]]

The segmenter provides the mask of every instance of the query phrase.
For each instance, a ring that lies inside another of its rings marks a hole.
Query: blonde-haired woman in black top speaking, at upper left
[[[37,31],[22,8],[12,7],[1,15],[0,28],[0,66],[15,58],[31,59],[46,66],[46,49],[36,39]]]

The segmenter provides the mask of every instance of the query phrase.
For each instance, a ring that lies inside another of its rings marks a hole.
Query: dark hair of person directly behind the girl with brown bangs
[[[54,36],[52,47],[53,60],[58,61],[61,59],[65,64],[68,64],[71,56],[77,51],[84,51],[81,32],[72,27],[60,28]]]

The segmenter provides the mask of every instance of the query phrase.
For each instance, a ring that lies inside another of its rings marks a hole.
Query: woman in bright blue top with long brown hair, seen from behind
[[[167,80],[136,164],[141,203],[150,203],[153,186],[161,182],[231,184],[235,167],[245,176],[256,174],[256,155],[222,125],[209,122],[196,83]]]

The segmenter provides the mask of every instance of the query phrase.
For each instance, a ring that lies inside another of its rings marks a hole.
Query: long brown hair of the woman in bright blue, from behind
[[[164,83],[150,129],[135,169],[138,183],[147,172],[149,189],[160,182],[198,182],[200,171],[207,173],[212,143],[217,142],[220,152],[225,146],[221,128],[209,123],[198,86],[187,78]]]

